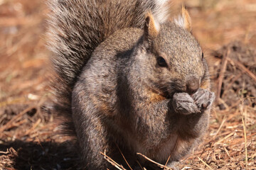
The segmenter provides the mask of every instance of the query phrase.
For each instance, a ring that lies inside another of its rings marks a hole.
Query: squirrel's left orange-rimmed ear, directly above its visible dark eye
[[[144,33],[146,38],[154,38],[159,34],[159,23],[154,20],[154,16],[151,12],[146,13],[146,22],[144,26]]]

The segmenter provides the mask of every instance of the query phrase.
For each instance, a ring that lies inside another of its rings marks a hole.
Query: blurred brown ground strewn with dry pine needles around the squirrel
[[[45,107],[51,95],[44,2],[0,0],[0,169],[76,167]],[[205,141],[180,168],[256,169],[256,1],[190,0],[186,6],[220,98]]]

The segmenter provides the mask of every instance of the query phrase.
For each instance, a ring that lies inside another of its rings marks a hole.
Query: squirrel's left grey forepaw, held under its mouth
[[[171,105],[176,113],[189,115],[191,113],[199,113],[200,109],[195,101],[187,93],[176,93],[172,99]]]

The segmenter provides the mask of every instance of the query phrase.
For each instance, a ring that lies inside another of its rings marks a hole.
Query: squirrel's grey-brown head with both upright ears
[[[144,81],[150,87],[171,96],[175,92],[193,94],[209,84],[206,60],[191,33],[191,19],[185,8],[174,22],[163,24],[148,13],[142,49],[140,74],[147,75]]]

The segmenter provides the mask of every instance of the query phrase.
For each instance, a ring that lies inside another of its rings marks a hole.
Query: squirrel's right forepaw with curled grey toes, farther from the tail
[[[192,98],[200,111],[206,111],[213,104],[215,94],[206,89],[198,89],[198,91],[192,95]]]

